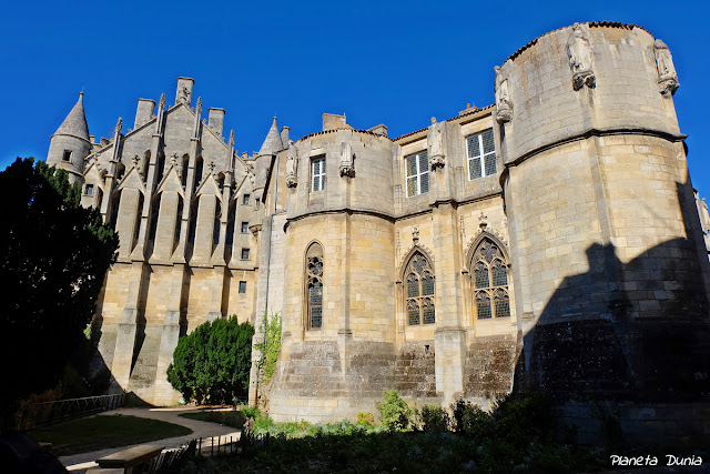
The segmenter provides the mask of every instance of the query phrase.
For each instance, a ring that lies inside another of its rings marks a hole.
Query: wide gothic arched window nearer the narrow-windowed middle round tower
[[[434,324],[434,269],[422,252],[409,259],[405,274],[407,321],[409,325]]]

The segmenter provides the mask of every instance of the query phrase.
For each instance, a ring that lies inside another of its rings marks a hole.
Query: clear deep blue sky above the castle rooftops
[[[637,23],[670,47],[693,185],[710,200],[710,7],[706,1],[7,2],[0,18],[0,169],[44,159],[83,89],[89,131],[132,127],[138,98],[195,79],[225,134],[258,150],[274,113],[301,138],[323,112],[389,134],[494,101],[494,65],[575,21]],[[194,99],[196,100],[196,99]],[[193,102],[194,103],[194,102]]]

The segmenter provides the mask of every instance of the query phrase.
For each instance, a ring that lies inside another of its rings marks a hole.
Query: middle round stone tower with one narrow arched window
[[[394,386],[395,148],[326,114],[322,132],[283,157],[288,250],[275,420],[355,418]]]

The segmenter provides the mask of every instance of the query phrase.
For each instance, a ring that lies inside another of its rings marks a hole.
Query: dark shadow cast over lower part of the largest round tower
[[[707,272],[694,239],[699,222],[688,213],[692,206],[686,201],[692,194],[687,188],[678,184],[689,239],[669,240],[628,263],[618,259],[612,244],[587,249],[589,271],[566,278],[525,335],[516,392],[541,390],[562,412],[572,406],[575,413],[596,413],[600,403],[611,403],[617,406],[617,422],[629,432],[656,433],[649,423],[671,420],[690,423],[672,416],[659,420],[659,406],[668,411],[668,404],[691,403],[678,411],[689,416],[698,406],[707,406]],[[636,412],[646,413],[646,418],[622,420]],[[569,420],[575,413],[567,413]],[[669,436],[663,440],[681,433]]]

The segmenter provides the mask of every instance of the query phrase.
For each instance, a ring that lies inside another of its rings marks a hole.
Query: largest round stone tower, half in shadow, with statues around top
[[[668,47],[576,23],[496,73],[524,373],[572,399],[700,393],[709,271]]]

